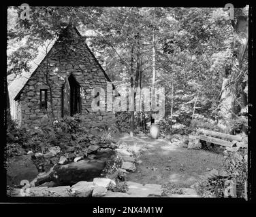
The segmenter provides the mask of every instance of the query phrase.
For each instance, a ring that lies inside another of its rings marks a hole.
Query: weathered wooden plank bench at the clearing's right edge
[[[220,132],[214,132],[211,130],[204,130],[204,129],[197,130],[197,135],[192,137],[189,136],[189,138],[191,139],[197,138],[198,140],[204,140],[206,142],[219,144],[221,146],[226,146],[229,148],[244,145],[243,138],[240,135],[223,134]]]

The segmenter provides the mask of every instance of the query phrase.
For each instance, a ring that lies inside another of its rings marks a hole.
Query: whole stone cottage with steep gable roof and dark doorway
[[[8,87],[11,115],[24,127],[76,113],[86,115],[88,123],[114,118],[113,112],[91,109],[91,90],[106,91],[111,81],[74,26],[67,26],[49,51],[39,55],[39,64],[29,76],[22,87],[15,82]]]

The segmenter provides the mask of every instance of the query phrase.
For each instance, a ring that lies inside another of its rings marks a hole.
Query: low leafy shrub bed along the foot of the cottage
[[[73,146],[75,153],[80,153],[90,145],[107,147],[114,142],[114,125],[109,127],[104,121],[99,125],[84,125],[82,119],[82,115],[56,119],[35,129],[20,128],[14,121],[8,120],[7,156],[22,155],[28,151],[46,153],[50,146],[60,146],[62,151]]]

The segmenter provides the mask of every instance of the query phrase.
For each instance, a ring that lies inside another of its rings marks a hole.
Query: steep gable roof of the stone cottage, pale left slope
[[[68,28],[69,26],[67,26]],[[79,33],[78,29],[76,28],[76,26],[73,27],[74,30],[76,31],[77,35],[79,37],[82,37],[82,35]],[[57,41],[57,40],[56,40]],[[47,54],[41,52],[41,54],[39,54],[37,56],[37,58],[35,60],[33,60],[33,62],[31,62],[31,70],[29,71],[29,73],[22,73],[21,77],[18,77],[17,79],[15,79],[14,81],[12,81],[12,83],[10,84],[10,86],[8,87],[9,90],[9,96],[10,96],[10,100],[18,100],[18,98],[20,98],[20,94],[22,93],[22,91],[25,88],[25,85],[27,85],[27,83],[29,82],[29,79],[35,74],[35,72],[37,71],[37,68],[39,67],[39,65],[44,62],[44,60],[46,59],[46,57],[48,56],[48,54],[50,54],[50,51],[52,50],[52,47],[54,46],[55,42],[52,43],[50,45],[50,49],[48,50]],[[110,77],[108,77],[106,71],[104,71],[104,69],[102,68],[101,64],[99,64],[99,61],[97,60],[97,58],[95,57],[95,55],[93,54],[93,52],[91,51],[91,49],[89,48],[89,46],[86,44],[86,42],[84,43],[87,50],[89,50],[91,56],[93,56],[93,59],[95,60],[95,62],[97,63],[97,65],[99,66],[99,68],[101,68],[101,71],[103,72],[103,74],[105,75],[106,79],[109,82],[112,82],[110,80]],[[24,76],[27,75],[27,76]],[[115,90],[114,85],[112,84],[113,90]]]

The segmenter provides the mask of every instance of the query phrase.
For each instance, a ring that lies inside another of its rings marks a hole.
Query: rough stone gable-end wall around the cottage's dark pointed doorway
[[[47,71],[50,86],[46,82]],[[22,90],[18,100],[21,108],[22,126],[31,127],[47,123],[52,118],[52,109],[54,117],[61,117],[62,87],[65,78],[70,74],[82,87],[81,113],[88,117],[86,121],[99,123],[103,119],[111,120],[114,118],[114,113],[106,112],[106,108],[101,112],[92,111],[91,90],[95,87],[102,87],[106,92],[108,80],[86,47],[85,38],[72,35],[68,41],[57,41],[53,45],[52,50],[39,64]],[[40,109],[40,89],[48,89],[47,110]]]

